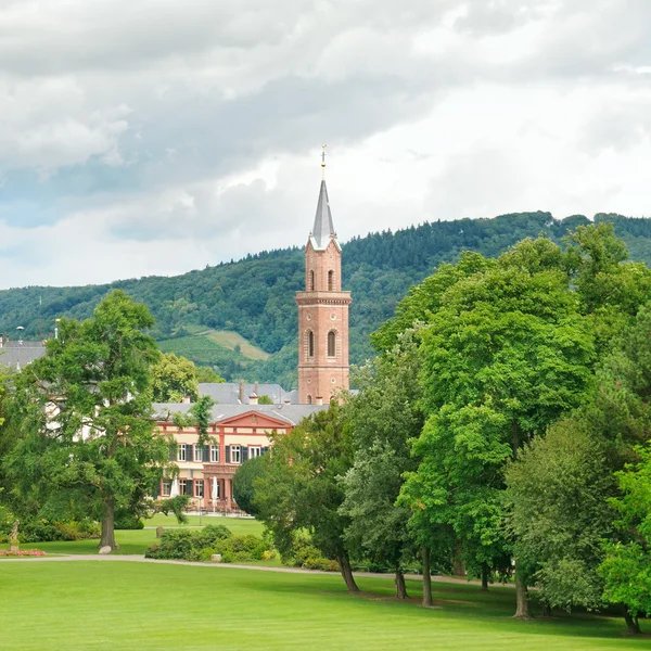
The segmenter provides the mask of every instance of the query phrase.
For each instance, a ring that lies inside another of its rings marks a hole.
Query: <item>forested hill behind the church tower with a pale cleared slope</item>
[[[613,221],[630,257],[651,266],[651,219],[597,215],[596,220]],[[465,250],[496,256],[514,242],[538,234],[558,242],[587,222],[580,215],[558,220],[549,213],[519,213],[354,238],[343,245],[344,285],[354,298],[350,361],[360,362],[372,354],[368,334],[393,314],[409,286],[439,263],[454,260]],[[303,253],[294,247],[171,278],[5,290],[0,291],[0,332],[11,335],[23,326],[26,336],[39,332],[44,336],[52,332],[54,319],[86,318],[101,296],[119,288],[149,306],[156,319],[153,334],[163,349],[214,366],[228,379],[279,381],[289,387],[295,382],[296,367],[294,292],[303,282]]]

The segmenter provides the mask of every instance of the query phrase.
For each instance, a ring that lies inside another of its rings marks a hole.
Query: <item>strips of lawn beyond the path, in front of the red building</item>
[[[199,515],[190,515],[189,523],[183,526],[197,527]],[[247,518],[202,518],[202,524],[222,524],[227,526],[234,535],[254,534],[261,535],[263,525]],[[173,515],[154,515],[151,520],[145,520],[144,529],[118,531],[115,532],[115,538],[119,545],[117,553],[141,554],[144,550],[156,541],[157,526],[178,527],[181,526]],[[98,553],[99,540],[75,540],[73,542],[23,542],[21,549],[42,549],[48,553]],[[0,549],[7,549],[8,545],[0,545]],[[1,647],[0,647],[1,648]]]

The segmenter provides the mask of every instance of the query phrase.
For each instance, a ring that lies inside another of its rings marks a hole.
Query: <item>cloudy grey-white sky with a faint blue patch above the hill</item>
[[[0,0],[0,288],[651,213],[649,0]]]

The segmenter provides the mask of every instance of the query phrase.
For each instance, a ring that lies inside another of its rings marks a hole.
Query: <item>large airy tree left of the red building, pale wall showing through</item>
[[[117,548],[116,509],[137,512],[168,464],[151,412],[155,342],[146,307],[114,291],[81,323],[64,319],[44,357],[15,380],[7,467],[44,511],[76,510]]]

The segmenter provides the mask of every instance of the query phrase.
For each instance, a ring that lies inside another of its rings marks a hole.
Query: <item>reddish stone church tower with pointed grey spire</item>
[[[298,401],[328,405],[348,391],[348,306],[342,292],[342,247],[332,224],[323,176],[315,225],[305,247],[305,291],[298,305]]]

